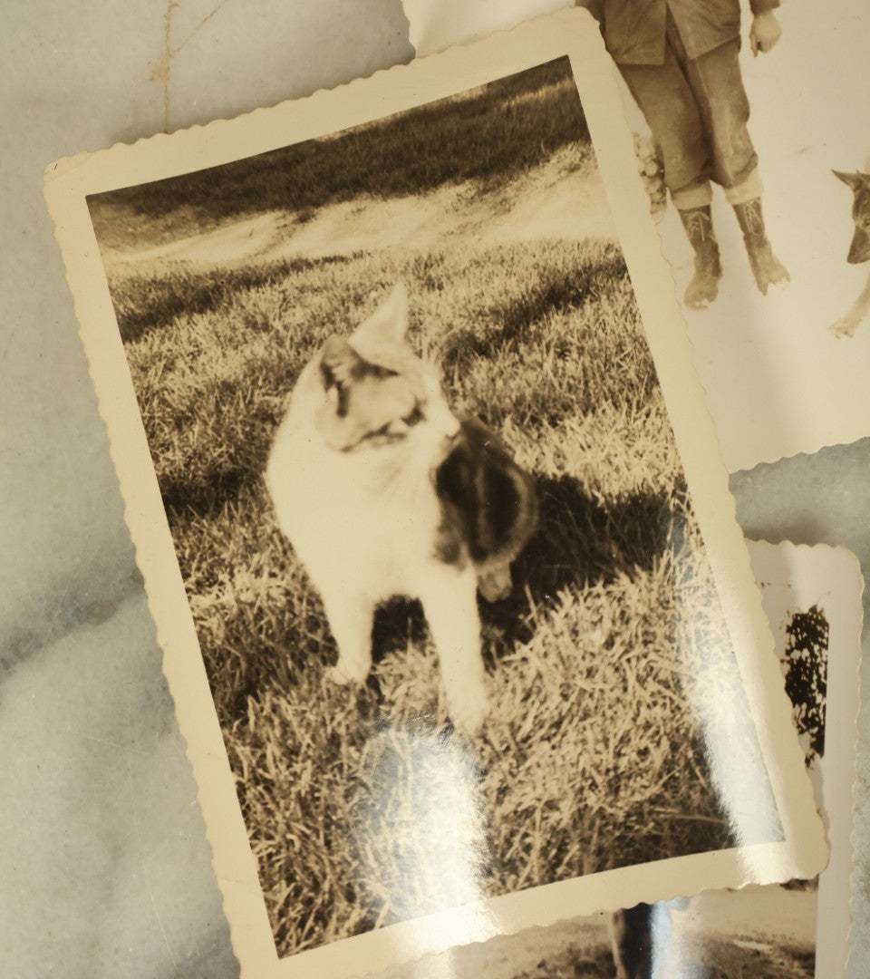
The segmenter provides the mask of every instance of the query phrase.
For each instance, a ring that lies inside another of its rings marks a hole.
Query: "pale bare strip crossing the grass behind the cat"
[[[310,215],[267,211],[150,249],[107,255],[138,271],[165,262],[216,266],[322,257],[390,246],[427,251],[474,238],[501,244],[544,238],[616,237],[600,177],[563,154],[491,192],[470,184],[414,197],[357,198]]]

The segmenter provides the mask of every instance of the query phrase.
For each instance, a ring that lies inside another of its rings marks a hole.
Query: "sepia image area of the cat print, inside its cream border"
[[[287,142],[88,199],[278,955],[782,839],[569,60]]]

